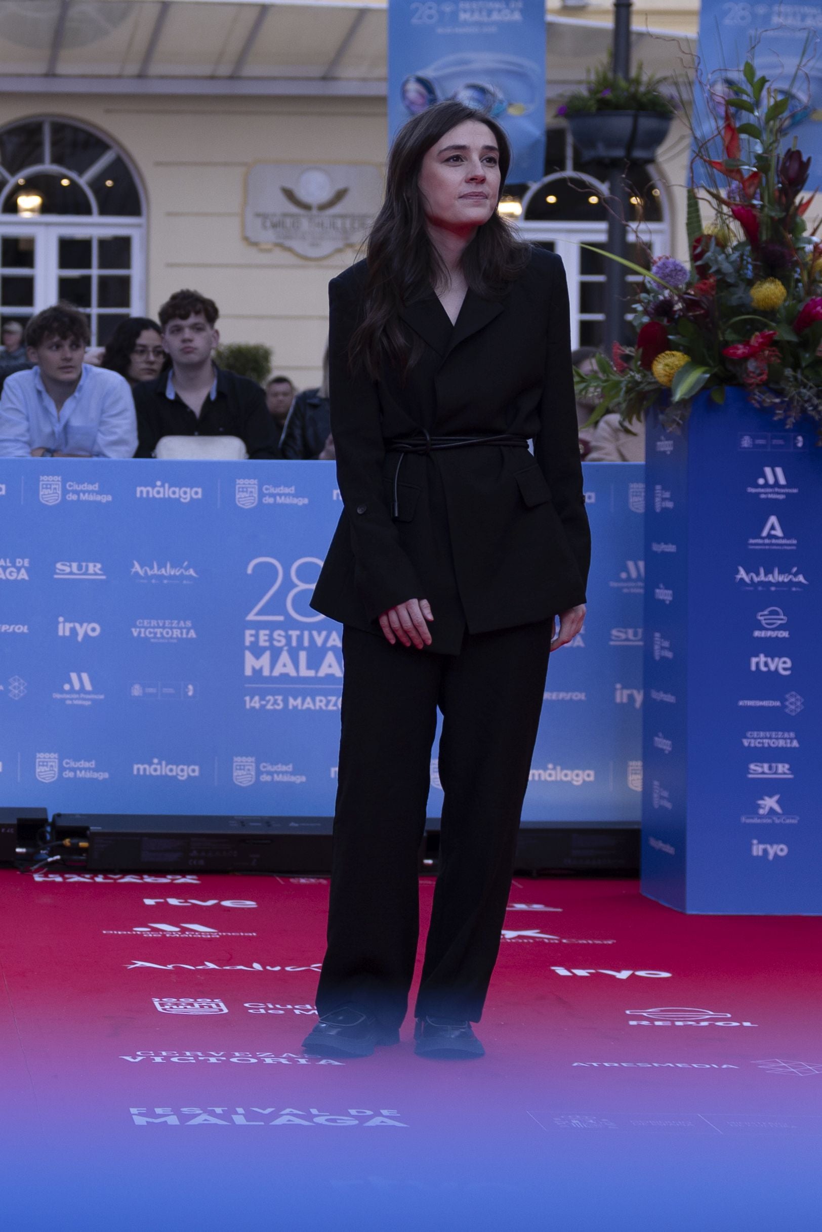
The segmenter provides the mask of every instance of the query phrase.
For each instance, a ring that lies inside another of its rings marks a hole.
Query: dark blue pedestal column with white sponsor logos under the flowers
[[[742,389],[646,445],[642,892],[822,914],[822,448]]]

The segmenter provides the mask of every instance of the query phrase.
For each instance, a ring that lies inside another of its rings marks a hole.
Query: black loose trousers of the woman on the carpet
[[[419,933],[418,850],[442,711],[440,872],[414,1015],[477,1023],[510,891],[553,621],[466,633],[457,655],[345,626],[328,950],[317,1009],[399,1026]]]

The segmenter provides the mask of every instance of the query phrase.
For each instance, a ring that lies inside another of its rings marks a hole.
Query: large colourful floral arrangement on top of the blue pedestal
[[[643,278],[635,345],[598,355],[593,372],[577,372],[577,392],[598,402],[592,424],[614,410],[630,423],[663,402],[675,424],[700,389],[721,404],[741,386],[787,426],[815,419],[822,444],[822,241],[804,221],[811,160],[796,139],[783,148],[790,99],[752,59],[730,91],[716,134],[725,156],[709,156],[710,140],[695,154],[705,182],[688,196],[690,265],[622,262]]]

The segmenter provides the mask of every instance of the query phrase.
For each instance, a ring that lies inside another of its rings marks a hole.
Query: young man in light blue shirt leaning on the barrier
[[[73,304],[28,322],[33,368],[12,372],[0,398],[0,457],[129,458],[137,446],[134,403],[117,372],[83,362],[89,324]]]

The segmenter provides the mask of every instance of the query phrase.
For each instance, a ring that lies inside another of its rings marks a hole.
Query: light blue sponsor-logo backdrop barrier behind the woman
[[[585,488],[526,822],[640,817],[643,468]],[[330,817],[341,631],[309,599],[341,508],[330,462],[0,461],[0,802]]]

